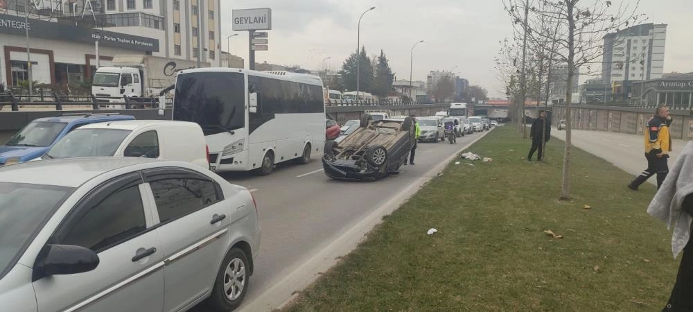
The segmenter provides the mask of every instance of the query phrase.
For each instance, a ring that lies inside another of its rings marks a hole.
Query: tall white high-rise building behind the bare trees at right
[[[642,24],[604,36],[602,77],[613,94],[627,97],[633,81],[662,78],[666,24]]]

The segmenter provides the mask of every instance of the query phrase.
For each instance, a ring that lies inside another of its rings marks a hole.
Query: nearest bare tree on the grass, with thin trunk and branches
[[[561,181],[561,199],[570,199],[570,152],[571,152],[571,106],[572,106],[572,80],[581,67],[590,70],[590,64],[599,63],[604,54],[603,37],[622,27],[632,26],[640,21],[642,15],[636,15],[640,1],[631,6],[620,3],[613,6],[613,1],[593,0],[585,3],[585,0],[559,0],[543,1],[541,8],[530,8],[529,17],[523,19],[524,12],[518,12],[516,0],[502,0],[507,12],[514,17],[516,22],[524,23],[525,28],[538,23],[537,19],[545,19],[551,24],[556,24],[558,30],[555,35],[533,31],[529,33],[538,37],[545,37],[550,42],[555,42],[555,49],[550,51],[561,63],[566,64],[568,78],[565,90],[565,151],[563,155],[563,177]],[[526,1],[526,0],[525,0]],[[583,6],[584,4],[584,6]]]

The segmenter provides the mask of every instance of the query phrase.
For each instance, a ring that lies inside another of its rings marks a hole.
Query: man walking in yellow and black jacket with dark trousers
[[[644,131],[647,169],[642,171],[638,177],[635,177],[635,180],[628,184],[629,189],[638,191],[640,184],[655,174],[657,174],[657,189],[662,187],[662,183],[669,173],[667,159],[669,158],[669,152],[672,150],[669,125],[672,125],[669,107],[657,107],[655,115],[647,121],[647,127]]]

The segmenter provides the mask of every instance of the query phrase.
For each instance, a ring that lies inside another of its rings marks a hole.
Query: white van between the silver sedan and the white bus
[[[42,159],[144,157],[209,168],[202,128],[185,121],[132,120],[91,123],[68,133]]]

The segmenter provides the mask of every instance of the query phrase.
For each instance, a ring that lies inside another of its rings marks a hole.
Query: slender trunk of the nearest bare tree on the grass
[[[568,79],[565,81],[565,152],[563,153],[563,181],[561,182],[561,199],[570,199],[570,132],[571,132],[571,114],[570,105],[572,101],[572,79],[575,71],[575,20],[573,10],[575,8],[574,0],[565,0],[566,9],[568,10]]]

